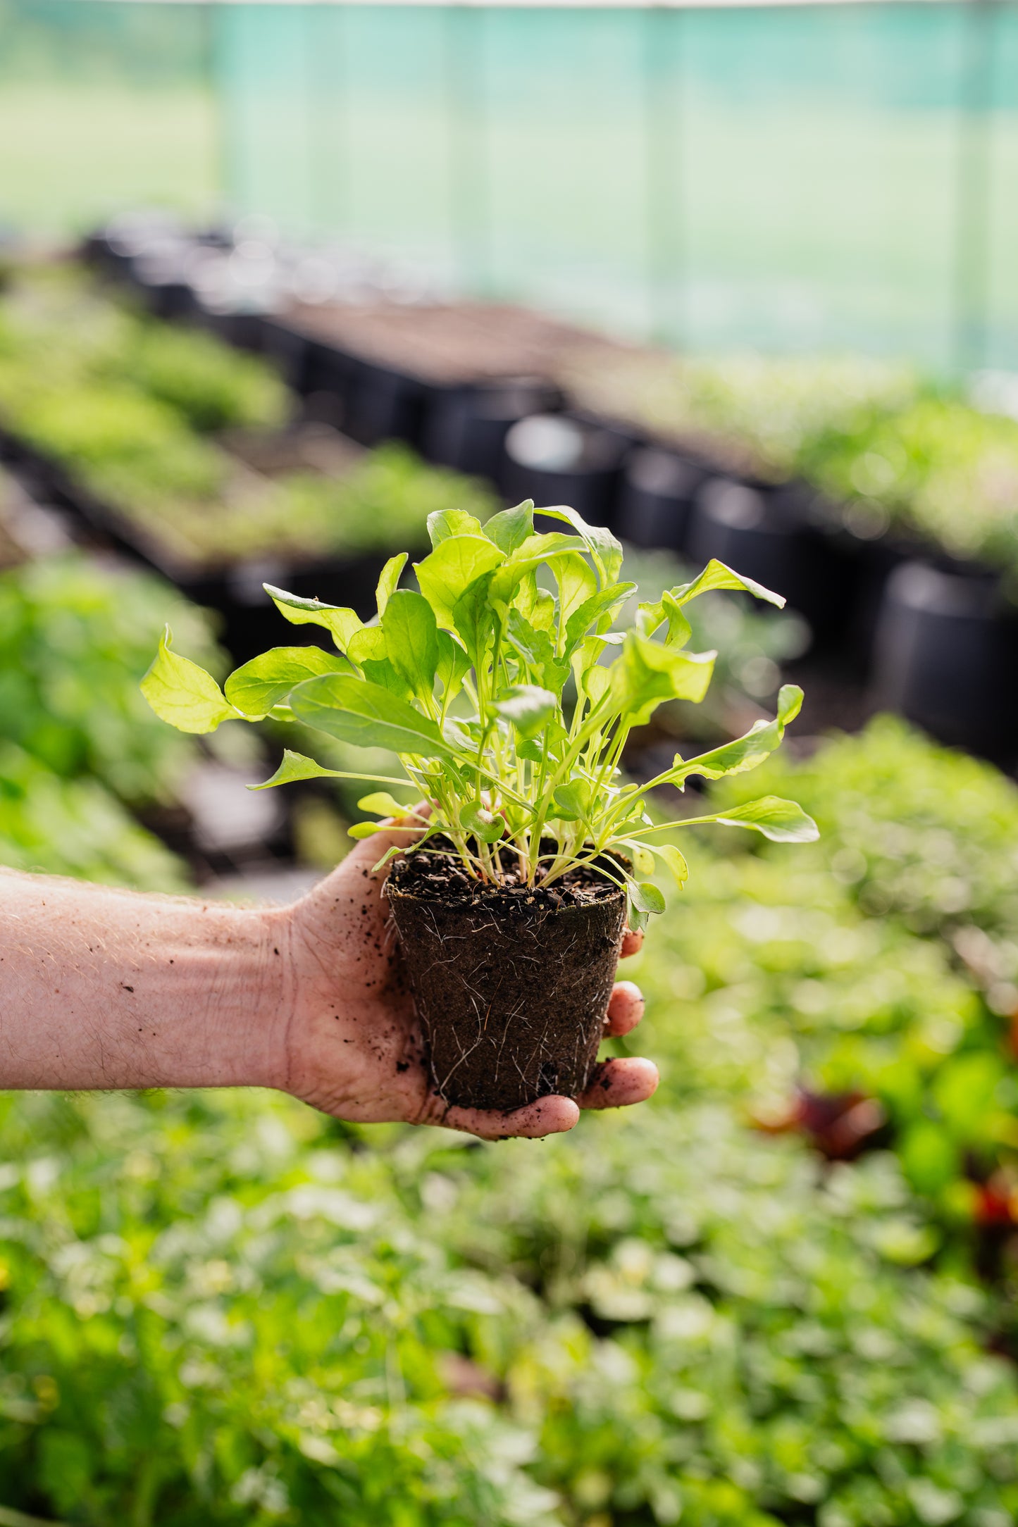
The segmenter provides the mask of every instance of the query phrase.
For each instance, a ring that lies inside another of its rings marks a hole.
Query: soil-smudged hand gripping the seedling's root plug
[[[571,1130],[580,1109],[643,1102],[658,1086],[649,1060],[601,1061],[586,1092],[549,1096],[513,1113],[450,1107],[430,1084],[421,1031],[398,945],[382,898],[386,870],[372,873],[406,831],[377,832],[357,843],[339,869],[285,919],[290,1015],[279,1086],[340,1119],[365,1124],[401,1119],[444,1124],[481,1139],[530,1138]],[[641,933],[626,933],[621,954],[635,954]],[[604,1034],[629,1034],[643,1017],[639,988],[618,982]]]

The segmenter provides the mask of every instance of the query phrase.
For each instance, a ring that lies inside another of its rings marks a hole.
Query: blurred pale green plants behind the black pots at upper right
[[[588,408],[722,467],[804,479],[829,515],[867,538],[896,527],[949,556],[1018,571],[1018,420],[908,366],[635,353],[571,388]]]

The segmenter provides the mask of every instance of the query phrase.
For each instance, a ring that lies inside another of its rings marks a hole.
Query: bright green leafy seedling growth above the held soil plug
[[[408,834],[423,829],[424,847],[441,834],[481,883],[498,886],[511,872],[514,884],[549,887],[597,861],[626,886],[630,922],[643,925],[665,904],[649,880],[656,861],[679,884],[687,878],[678,847],[659,838],[679,823],[653,820],[649,793],[762,764],[798,713],[801,690],[784,686],[772,721],[699,757],[676,754],[641,785],[621,773],[626,739],[664,701],[702,701],[707,693],[716,654],[687,651],[690,600],[710,589],[783,600],[710,562],[693,582],[639,605],[633,629],[615,632],[612,618],[635,588],[621,582],[618,541],[571,508],[540,513],[569,530],[536,534],[530,501],[484,527],[461,510],[430,515],[433,550],[415,563],[420,592],[397,588],[406,554],[392,557],[379,583],[377,620],[366,625],[353,609],[267,586],[287,620],[324,626],[334,651],[273,647],[232,673],[224,690],[172,652],[166,631],[143,693],[157,715],[186,731],[273,716],[388,748],[398,756],[398,777],[328,770],[287,750],[256,788],[316,776],[409,785],[430,805],[427,820],[389,794],[366,796],[360,806],[404,817]],[[752,828],[778,841],[817,837],[800,806],[775,796],[681,825],[702,822]],[[360,838],[377,828],[362,822],[351,832]]]

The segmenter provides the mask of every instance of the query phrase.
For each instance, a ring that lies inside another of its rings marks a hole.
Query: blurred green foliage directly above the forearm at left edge
[[[218,670],[194,605],[78,553],[0,573],[0,864],[185,890],[185,864],[125,809],[174,802],[197,757],[137,683],[171,618]]]

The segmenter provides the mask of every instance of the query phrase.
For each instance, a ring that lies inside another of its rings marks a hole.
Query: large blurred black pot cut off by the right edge
[[[873,698],[940,742],[998,762],[1018,751],[1018,618],[994,574],[905,562],[876,629]]]

